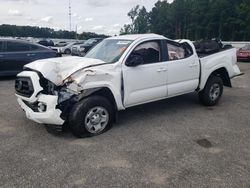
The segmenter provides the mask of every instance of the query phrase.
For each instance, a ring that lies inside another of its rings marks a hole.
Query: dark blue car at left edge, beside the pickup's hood
[[[24,65],[32,61],[56,56],[54,51],[38,44],[0,39],[0,76],[16,75],[23,70]]]

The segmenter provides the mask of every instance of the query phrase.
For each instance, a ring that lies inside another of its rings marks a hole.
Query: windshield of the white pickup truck
[[[115,63],[133,41],[108,39],[104,40],[90,50],[85,57],[100,59],[106,63]]]

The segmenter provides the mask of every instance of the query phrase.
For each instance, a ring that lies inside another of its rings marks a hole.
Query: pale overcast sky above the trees
[[[71,0],[72,30],[118,34],[131,8],[151,10],[157,0]],[[0,0],[0,24],[69,30],[69,0]]]

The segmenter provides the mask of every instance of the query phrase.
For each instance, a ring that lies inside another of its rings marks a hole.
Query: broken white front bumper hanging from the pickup
[[[40,124],[51,124],[51,125],[64,124],[65,121],[60,117],[62,111],[56,108],[58,100],[57,96],[43,95],[43,94],[40,94],[38,96],[37,102],[46,105],[46,110],[44,112],[35,112],[25,103],[27,101],[21,99],[19,95],[16,96],[18,97],[17,101],[19,105],[25,111],[28,119]]]

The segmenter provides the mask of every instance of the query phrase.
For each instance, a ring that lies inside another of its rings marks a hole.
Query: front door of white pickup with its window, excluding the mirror
[[[128,59],[134,54],[143,62],[135,67],[123,64],[125,107],[166,98],[167,64],[162,61],[161,41],[139,44]]]

